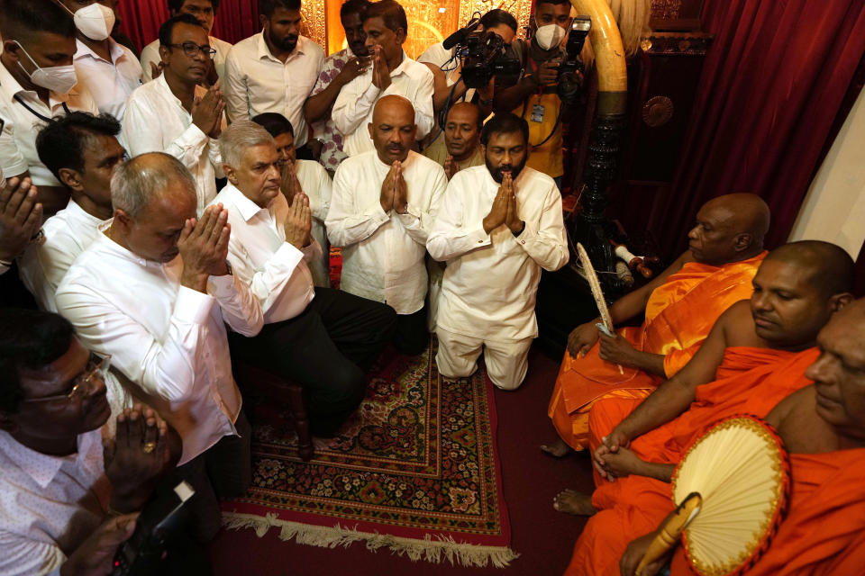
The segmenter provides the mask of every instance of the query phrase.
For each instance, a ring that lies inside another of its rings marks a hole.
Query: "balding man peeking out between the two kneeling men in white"
[[[432,145],[423,150],[423,156],[442,165],[450,180],[460,170],[484,164],[480,148],[480,130],[484,119],[478,104],[458,102],[451,106],[444,122],[444,130]]]

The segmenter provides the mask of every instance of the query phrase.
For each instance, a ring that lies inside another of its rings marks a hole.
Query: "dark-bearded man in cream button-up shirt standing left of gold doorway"
[[[324,50],[300,35],[300,0],[259,0],[259,14],[262,30],[238,42],[225,63],[228,117],[238,121],[264,112],[282,114],[295,128],[297,157],[311,160],[304,103]]]

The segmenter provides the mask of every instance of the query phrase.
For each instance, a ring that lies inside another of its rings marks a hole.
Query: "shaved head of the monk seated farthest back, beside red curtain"
[[[703,204],[688,233],[697,262],[722,266],[755,257],[769,230],[769,206],[750,193],[725,194]]]

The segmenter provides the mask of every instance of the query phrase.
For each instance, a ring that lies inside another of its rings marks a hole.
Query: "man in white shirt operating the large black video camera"
[[[505,10],[496,8],[495,10],[490,10],[480,18],[480,23],[475,28],[474,33],[492,31],[501,36],[502,40],[505,40],[505,44],[510,44],[514,40],[516,29],[517,23],[514,16]],[[432,70],[432,107],[436,118],[438,118],[442,106],[447,103],[449,96],[451,97],[451,103],[456,103],[460,100],[477,103],[480,108],[481,118],[486,118],[489,112],[492,111],[493,85],[490,83],[486,88],[475,91],[468,88],[464,82],[460,82],[462,66],[460,59],[454,58],[457,48],[458,46],[445,49],[442,46],[442,42],[438,42],[437,44],[432,44],[417,58],[418,62],[425,64]],[[444,67],[444,70],[442,70],[442,67]],[[458,82],[459,84],[457,84]],[[453,85],[455,84],[457,86],[454,88]],[[451,88],[453,89],[453,94],[451,94]],[[476,92],[478,93],[477,98],[475,98]]]

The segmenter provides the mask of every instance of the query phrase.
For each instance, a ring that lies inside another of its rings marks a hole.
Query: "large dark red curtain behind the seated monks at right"
[[[786,241],[865,53],[860,0],[706,0],[706,58],[678,173],[649,228],[669,257],[699,207],[724,193],[769,203],[767,246]]]

